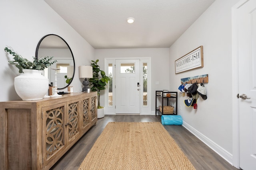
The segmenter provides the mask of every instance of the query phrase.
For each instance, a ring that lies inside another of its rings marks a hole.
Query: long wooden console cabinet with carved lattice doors
[[[96,92],[0,102],[0,169],[48,170],[96,121]]]

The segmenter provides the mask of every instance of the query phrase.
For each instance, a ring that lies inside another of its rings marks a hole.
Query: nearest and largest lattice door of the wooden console
[[[66,102],[42,107],[42,154],[43,166],[65,149]]]

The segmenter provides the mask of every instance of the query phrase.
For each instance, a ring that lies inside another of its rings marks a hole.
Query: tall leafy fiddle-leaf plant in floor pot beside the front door
[[[90,84],[90,90],[92,92],[97,92],[98,93],[98,109],[103,108],[100,106],[100,90],[105,90],[106,85],[110,78],[106,76],[106,73],[102,70],[100,70],[100,66],[98,65],[98,59],[96,61],[92,61],[91,66],[92,66],[92,78],[89,79]]]

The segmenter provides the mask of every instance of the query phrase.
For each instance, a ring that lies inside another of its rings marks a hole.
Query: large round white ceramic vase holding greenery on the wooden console
[[[22,100],[41,100],[49,88],[49,80],[41,70],[24,69],[14,78],[14,88]]]

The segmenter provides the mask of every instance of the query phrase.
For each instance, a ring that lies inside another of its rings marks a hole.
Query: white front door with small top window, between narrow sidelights
[[[116,114],[140,114],[140,60],[116,60]]]

